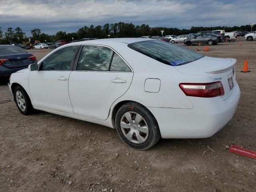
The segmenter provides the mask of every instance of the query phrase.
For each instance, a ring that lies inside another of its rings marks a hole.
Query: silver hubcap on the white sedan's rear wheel
[[[148,124],[146,120],[136,112],[126,112],[120,122],[124,136],[133,143],[140,144],[148,138]]]

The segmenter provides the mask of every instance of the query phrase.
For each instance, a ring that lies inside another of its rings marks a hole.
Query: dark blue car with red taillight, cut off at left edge
[[[18,46],[0,45],[0,81],[36,62],[36,56]]]

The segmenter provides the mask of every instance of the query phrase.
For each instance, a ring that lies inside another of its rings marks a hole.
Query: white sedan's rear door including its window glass
[[[70,74],[68,90],[74,114],[106,120],[113,102],[129,88],[133,72],[111,48],[83,46]]]

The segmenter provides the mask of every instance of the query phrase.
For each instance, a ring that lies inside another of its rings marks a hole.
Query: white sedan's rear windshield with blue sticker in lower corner
[[[159,40],[135,42],[128,44],[128,47],[171,66],[184,65],[204,57],[186,48]]]

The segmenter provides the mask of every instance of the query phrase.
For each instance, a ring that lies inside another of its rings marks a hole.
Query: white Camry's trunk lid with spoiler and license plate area
[[[221,81],[225,94],[220,97],[225,100],[234,90],[232,85],[234,86],[236,80],[235,63],[236,59],[232,58],[213,58],[205,56],[186,65],[176,66],[176,69],[183,74],[204,75],[210,77],[213,82]]]

